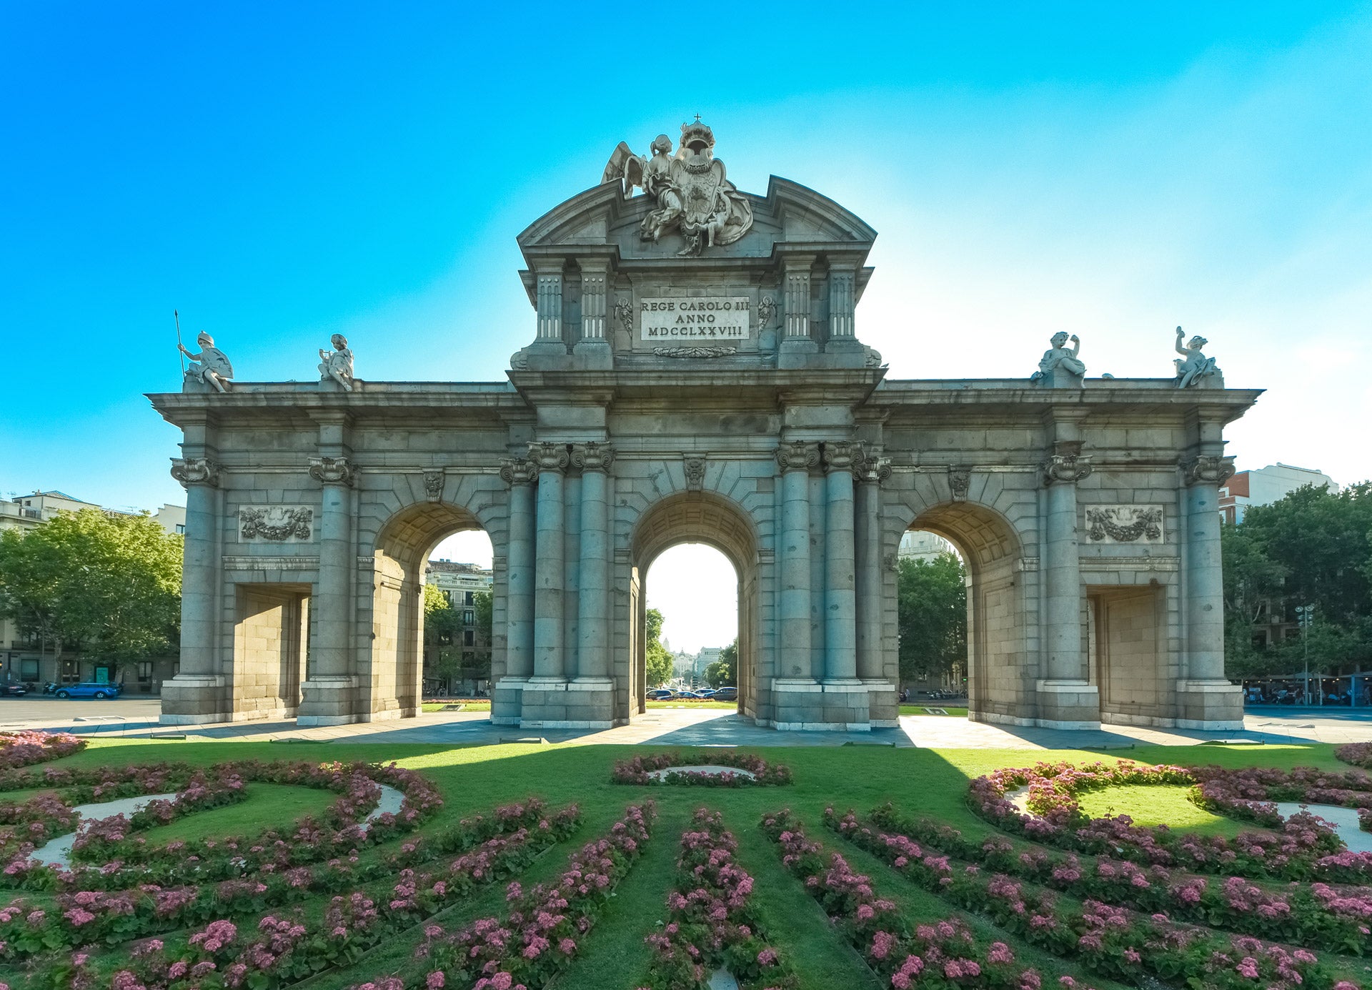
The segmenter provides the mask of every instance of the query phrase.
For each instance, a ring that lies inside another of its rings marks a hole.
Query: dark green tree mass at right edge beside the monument
[[[1221,541],[1225,673],[1295,673],[1306,651],[1312,670],[1372,666],[1372,482],[1306,485],[1253,505]],[[1294,622],[1305,604],[1314,621],[1303,638],[1265,643],[1259,630]]]

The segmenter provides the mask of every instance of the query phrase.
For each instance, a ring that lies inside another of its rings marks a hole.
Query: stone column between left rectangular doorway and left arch
[[[320,577],[310,600],[313,637],[298,725],[357,721],[353,674],[353,481],[348,457],[311,457],[310,476],[320,497]]]

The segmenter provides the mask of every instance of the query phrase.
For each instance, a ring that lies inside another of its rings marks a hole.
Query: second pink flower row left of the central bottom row
[[[525,807],[536,802],[525,802]],[[506,817],[508,824],[523,821]],[[132,965],[114,976],[117,990],[189,990],[189,975],[206,987],[273,990],[362,953],[468,897],[475,888],[523,872],[542,850],[568,838],[580,818],[573,807],[541,818],[534,828],[487,839],[432,873],[402,869],[388,897],[361,890],[331,899],[320,921],[266,914],[251,927],[221,917],[195,932],[180,949],[151,939],[132,954]],[[258,932],[244,935],[243,932]]]

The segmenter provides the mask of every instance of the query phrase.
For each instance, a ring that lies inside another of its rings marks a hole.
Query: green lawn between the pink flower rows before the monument
[[[671,704],[671,703],[667,703]],[[696,703],[700,704],[700,703]],[[723,703],[716,703],[722,704]],[[731,706],[724,706],[731,707]],[[923,707],[923,706],[918,706]],[[665,748],[665,747],[663,747]],[[579,802],[584,825],[572,839],[543,854],[521,877],[530,883],[556,876],[567,855],[589,839],[602,833],[623,811],[624,806],[653,796],[659,802],[660,817],[653,842],[643,860],[619,888],[598,924],[582,941],[582,953],[558,979],[557,990],[591,990],[593,987],[638,986],[648,967],[648,947],[643,936],[654,931],[654,923],[665,916],[664,899],[672,884],[672,864],[681,833],[694,809],[708,806],[724,813],[727,827],[740,842],[741,865],[756,877],[756,903],[767,931],[796,965],[801,986],[807,990],[856,987],[877,990],[866,964],[853,953],[829,924],[823,910],[805,894],[804,888],[783,872],[777,849],[763,836],[757,821],[763,813],[792,807],[805,822],[812,838],[826,849],[841,851],[855,869],[868,872],[882,895],[893,898],[912,921],[936,920],[956,914],[945,902],[929,894],[840,840],[820,825],[826,805],[837,809],[855,807],[859,811],[893,801],[907,813],[926,814],[963,831],[969,838],[992,829],[974,817],[965,805],[969,779],[1004,766],[1025,766],[1040,759],[1078,759],[1089,762],[1102,758],[1099,752],[1043,751],[1043,750],[896,750],[886,747],[788,747],[760,748],[767,759],[788,763],[794,772],[794,784],[783,788],[635,788],[609,783],[611,765],[616,759],[652,752],[656,747],[583,746],[563,743],[554,746],[409,746],[359,744],[346,740],[329,744],[300,743],[289,747],[254,741],[158,741],[139,739],[111,739],[93,741],[85,752],[62,761],[71,766],[100,763],[158,762],[180,759],[193,763],[215,763],[226,759],[366,759],[397,761],[428,776],[445,795],[443,813],[431,820],[424,831],[434,831],[443,822],[472,811],[484,811],[495,805],[536,794],[561,805]],[[1328,746],[1269,746],[1269,747],[1140,747],[1129,751],[1131,758],[1147,762],[1214,762],[1239,765],[1313,765],[1340,769]],[[251,832],[265,825],[284,825],[302,814],[317,813],[333,795],[309,788],[269,784],[250,785],[251,795],[237,806],[198,816],[188,816],[173,825],[150,831],[147,838],[163,842],[173,836],[213,836]],[[1185,801],[1184,788],[1148,787],[1118,788],[1089,794],[1083,801],[1091,813],[1128,813],[1142,824],[1162,822],[1174,827],[1195,827],[1202,831],[1233,829],[1233,824],[1214,818]],[[364,850],[364,860],[384,857],[398,846],[394,840],[375,850]],[[22,894],[30,899],[41,895]],[[8,898],[0,897],[0,903]],[[318,916],[327,898],[306,902],[302,910]],[[449,908],[434,919],[445,927],[458,927],[477,917],[498,914],[504,909],[504,891],[480,888],[472,897]],[[1039,967],[1045,987],[1056,987],[1058,976],[1074,979],[1102,990],[1118,990],[1118,985],[1100,979],[1074,964],[1044,957],[1041,953],[1013,938],[995,932],[985,923],[971,919],[974,930],[985,939],[1008,941],[1017,954]],[[307,983],[309,990],[343,990],[377,974],[394,972],[410,958],[423,941],[421,927],[388,939],[383,946],[364,956],[357,964],[322,974]],[[99,952],[123,952],[122,947]],[[115,958],[111,956],[111,960]],[[608,980],[606,975],[613,974]],[[12,987],[23,986],[18,965],[0,965],[0,980]]]

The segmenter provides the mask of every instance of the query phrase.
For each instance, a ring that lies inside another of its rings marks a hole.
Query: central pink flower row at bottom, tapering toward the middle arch
[[[667,924],[648,936],[653,965],[639,990],[700,990],[719,967],[745,990],[796,986],[794,972],[767,943],[749,908],[753,877],[734,862],[737,849],[719,811],[696,811],[682,835]]]

